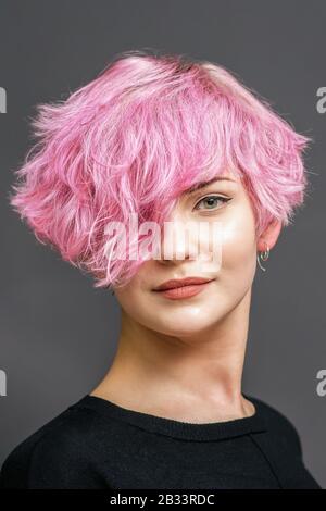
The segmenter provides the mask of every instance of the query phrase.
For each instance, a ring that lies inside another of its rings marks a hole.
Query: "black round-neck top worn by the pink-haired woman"
[[[264,401],[255,413],[195,424],[86,395],[5,459],[3,488],[318,488],[292,423]]]

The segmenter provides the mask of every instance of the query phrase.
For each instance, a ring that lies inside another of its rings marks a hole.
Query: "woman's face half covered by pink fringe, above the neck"
[[[124,313],[135,322],[164,335],[187,337],[223,320],[250,291],[258,250],[254,214],[240,177],[224,174],[180,196],[168,221],[177,225],[174,242],[163,236],[161,259],[146,261],[127,285],[114,291]],[[214,222],[218,226],[215,245]],[[188,237],[180,232],[186,232],[186,225]],[[190,276],[211,282],[197,285],[199,292],[181,298],[154,290],[166,281]]]

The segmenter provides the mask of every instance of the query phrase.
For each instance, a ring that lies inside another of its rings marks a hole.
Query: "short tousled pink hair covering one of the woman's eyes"
[[[137,213],[163,226],[180,194],[226,169],[243,178],[258,234],[276,219],[288,225],[304,201],[310,138],[214,63],[126,51],[66,100],[37,108],[38,141],[10,202],[95,287],[123,285],[141,264],[108,258],[109,221]]]

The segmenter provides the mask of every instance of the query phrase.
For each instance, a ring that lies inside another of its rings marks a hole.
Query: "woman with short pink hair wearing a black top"
[[[11,203],[114,289],[122,325],[106,376],[10,453],[2,487],[321,488],[293,424],[241,391],[256,262],[304,201],[309,139],[227,70],[142,51],[34,127]]]

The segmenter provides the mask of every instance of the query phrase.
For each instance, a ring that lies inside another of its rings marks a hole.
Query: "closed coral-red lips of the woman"
[[[183,298],[190,298],[203,291],[208,285],[215,281],[215,278],[199,278],[188,277],[179,281],[167,281],[158,288],[153,289],[154,292],[160,294],[165,298],[172,300],[179,300]]]

